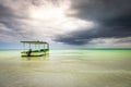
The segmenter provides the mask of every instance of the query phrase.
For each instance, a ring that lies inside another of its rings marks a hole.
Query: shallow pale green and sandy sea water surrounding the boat
[[[0,51],[0,87],[131,87],[131,50]]]

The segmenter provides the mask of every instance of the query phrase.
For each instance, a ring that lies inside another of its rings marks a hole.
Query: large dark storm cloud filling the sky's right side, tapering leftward
[[[72,0],[69,16],[75,16],[98,24],[91,29],[69,33],[70,36],[57,36],[56,41],[69,45],[85,45],[95,38],[131,37],[130,0]]]

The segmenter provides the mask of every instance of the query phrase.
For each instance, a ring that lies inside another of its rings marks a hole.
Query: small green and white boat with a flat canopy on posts
[[[46,41],[21,41],[23,44],[22,57],[41,57],[49,52],[49,44]]]

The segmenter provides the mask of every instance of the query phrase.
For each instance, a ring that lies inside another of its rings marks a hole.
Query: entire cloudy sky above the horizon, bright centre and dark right
[[[131,0],[0,0],[0,48],[131,47]]]

